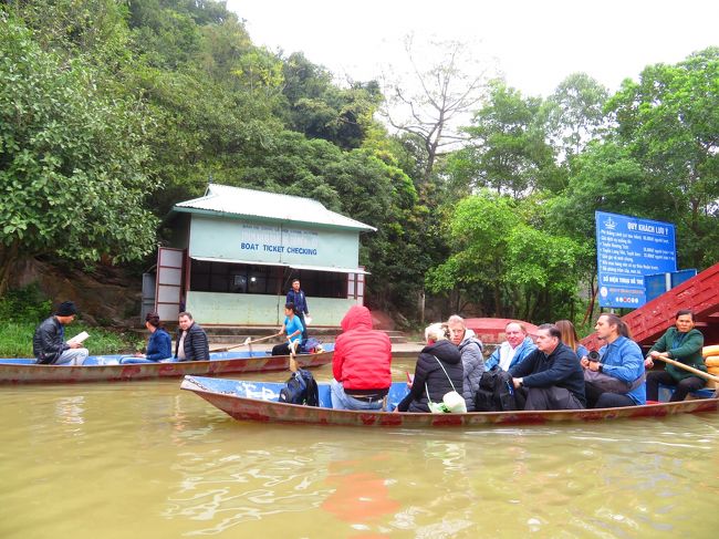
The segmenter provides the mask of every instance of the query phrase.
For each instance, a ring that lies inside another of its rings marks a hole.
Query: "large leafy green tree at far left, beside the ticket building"
[[[122,262],[154,249],[148,124],[137,101],[101,86],[12,17],[0,27],[0,292],[21,257]]]

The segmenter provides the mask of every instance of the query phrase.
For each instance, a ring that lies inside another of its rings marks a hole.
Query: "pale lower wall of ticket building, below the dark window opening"
[[[284,321],[284,296],[187,293],[187,310],[200,324],[277,325]],[[308,298],[312,325],[340,325],[354,299]]]

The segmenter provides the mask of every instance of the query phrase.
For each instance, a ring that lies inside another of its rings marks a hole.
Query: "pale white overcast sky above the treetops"
[[[403,38],[458,40],[510,86],[550,95],[585,72],[616,91],[655,63],[719,45],[716,0],[228,0],[256,44],[301,51],[338,80],[406,64]]]

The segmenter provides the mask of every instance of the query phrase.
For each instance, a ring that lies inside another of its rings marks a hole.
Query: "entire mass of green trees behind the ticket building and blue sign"
[[[502,81],[482,97],[483,73],[454,64],[427,73],[472,96],[461,147],[444,124],[389,134],[375,81],[257,46],[225,2],[0,3],[0,293],[20,257],[142,261],[210,179],[376,227],[367,301],[409,318],[425,286],[441,314],[579,317],[595,210],[676,222],[680,267],[719,258],[718,49],[614,95],[583,73],[546,99]]]

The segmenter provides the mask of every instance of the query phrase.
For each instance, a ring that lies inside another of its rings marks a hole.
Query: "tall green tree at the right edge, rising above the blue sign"
[[[644,182],[670,201],[647,215],[677,224],[679,258],[706,268],[719,258],[719,48],[676,65],[646,68],[608,102],[619,139]]]

